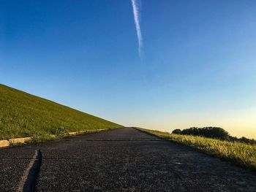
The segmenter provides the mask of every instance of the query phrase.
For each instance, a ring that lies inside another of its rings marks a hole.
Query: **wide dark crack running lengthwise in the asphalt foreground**
[[[40,166],[42,164],[42,152],[36,150],[34,156],[29,162],[29,166],[26,168],[23,177],[20,180],[18,192],[32,192],[36,190],[37,177],[39,175]]]

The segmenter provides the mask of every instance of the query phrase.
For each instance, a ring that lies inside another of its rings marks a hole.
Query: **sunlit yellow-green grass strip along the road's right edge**
[[[148,130],[144,128],[138,129],[163,139],[169,139],[170,141],[193,147],[196,150],[207,153],[208,155],[213,155],[246,169],[256,171],[256,145],[248,145],[241,142],[227,142],[219,139],[209,139],[206,137],[169,134],[167,132]]]

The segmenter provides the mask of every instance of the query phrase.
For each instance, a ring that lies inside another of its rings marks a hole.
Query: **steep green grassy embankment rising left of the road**
[[[61,136],[69,131],[119,128],[93,115],[0,84],[0,139]]]

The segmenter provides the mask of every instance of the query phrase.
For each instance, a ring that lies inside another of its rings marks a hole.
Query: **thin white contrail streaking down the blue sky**
[[[142,59],[143,39],[140,31],[140,12],[139,12],[140,7],[136,0],[131,0],[131,1],[132,1],[133,15],[135,18],[135,26],[136,26],[137,37],[138,37],[138,51],[139,51],[140,59]]]

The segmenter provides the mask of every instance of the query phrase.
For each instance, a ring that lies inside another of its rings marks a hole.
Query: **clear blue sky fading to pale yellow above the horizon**
[[[256,138],[256,1],[0,5],[1,84],[124,126]]]

